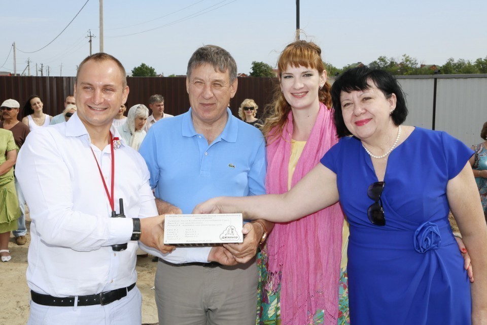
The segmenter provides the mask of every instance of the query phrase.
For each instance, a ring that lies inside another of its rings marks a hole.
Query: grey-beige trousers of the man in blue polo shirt
[[[254,325],[258,274],[247,264],[206,268],[157,265],[155,298],[160,325]]]

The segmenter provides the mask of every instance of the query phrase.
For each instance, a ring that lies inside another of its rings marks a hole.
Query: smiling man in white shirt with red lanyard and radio
[[[172,247],[163,246],[164,217],[144,159],[111,127],[128,93],[120,61],[89,56],[76,77],[77,113],[37,129],[22,146],[16,174],[32,219],[29,324],[142,322],[137,240],[162,252]],[[126,217],[111,217],[121,199]]]

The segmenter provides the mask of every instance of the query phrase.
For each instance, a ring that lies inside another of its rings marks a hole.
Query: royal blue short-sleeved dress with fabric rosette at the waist
[[[336,173],[350,222],[352,324],[468,325],[470,283],[448,223],[446,184],[473,150],[444,132],[416,127],[389,155],[382,205],[385,226],[367,217],[377,182],[360,140],[342,138],[321,159]]]

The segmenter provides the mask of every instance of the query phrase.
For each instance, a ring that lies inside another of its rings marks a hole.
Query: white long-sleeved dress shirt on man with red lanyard
[[[120,137],[113,126],[111,132]],[[31,132],[19,152],[16,176],[32,219],[27,283],[37,293],[92,295],[137,279],[130,218],[157,215],[146,163],[129,146],[115,149],[115,210],[122,198],[127,218],[110,218],[93,153],[110,191],[110,146],[92,145],[76,113],[66,123]],[[126,250],[112,250],[127,242]]]

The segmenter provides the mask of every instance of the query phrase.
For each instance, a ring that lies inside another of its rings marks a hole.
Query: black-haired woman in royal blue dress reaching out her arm
[[[350,222],[352,324],[487,323],[487,225],[473,151],[444,132],[401,125],[404,94],[387,72],[343,73],[332,100],[340,141],[289,192],[216,198],[195,212],[285,222],[339,200]],[[472,259],[471,286],[449,209]]]

